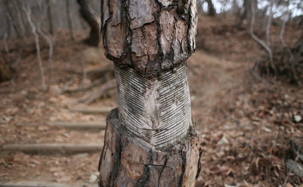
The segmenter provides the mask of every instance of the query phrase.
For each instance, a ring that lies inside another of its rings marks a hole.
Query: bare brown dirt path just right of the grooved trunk
[[[219,98],[243,83],[249,68],[245,62],[226,60],[203,50],[197,50],[188,60],[192,113],[195,120],[212,116],[220,107]]]

